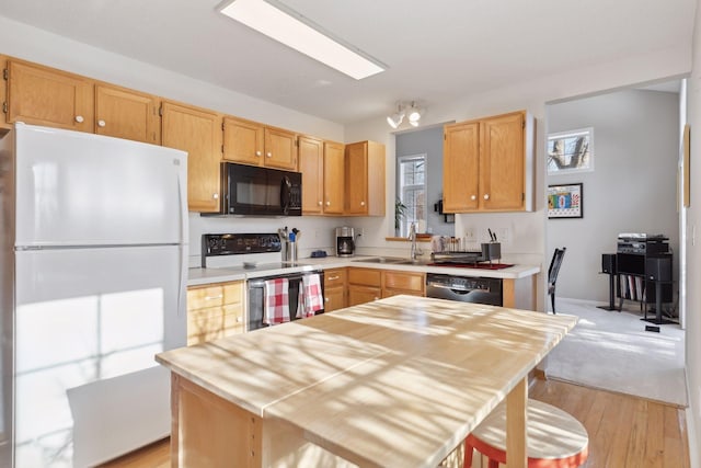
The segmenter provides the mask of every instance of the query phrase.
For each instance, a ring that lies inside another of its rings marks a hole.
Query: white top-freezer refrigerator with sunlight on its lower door
[[[170,433],[187,155],[16,124],[0,139],[0,466],[88,467]]]

